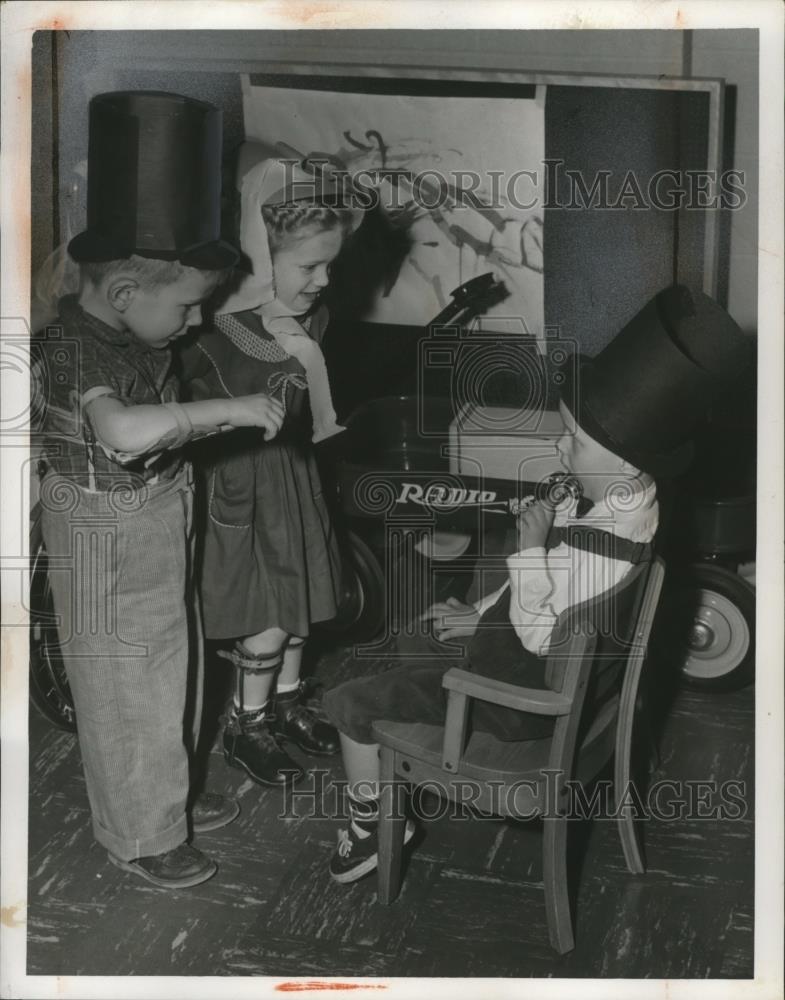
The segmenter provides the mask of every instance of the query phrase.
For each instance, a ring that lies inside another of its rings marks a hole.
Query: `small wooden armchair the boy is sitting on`
[[[381,903],[391,903],[400,890],[404,834],[400,793],[404,783],[427,781],[429,788],[440,788],[454,801],[465,801],[467,783],[471,783],[473,804],[480,810],[512,818],[542,816],[548,934],[560,954],[571,951],[566,782],[590,781],[614,751],[614,795],[624,857],[630,871],[644,871],[634,818],[631,810],[620,806],[630,781],[638,684],[663,575],[660,558],[643,563],[617,587],[561,615],[546,666],[548,690],[518,687],[452,669],[442,682],[448,692],[443,727],[386,721],[374,724],[374,739],[381,746]],[[621,669],[621,690],[617,684],[618,693],[601,704],[593,718],[582,722],[592,671],[610,669]],[[553,737],[515,743],[475,732],[467,741],[469,699],[473,698],[555,716]]]

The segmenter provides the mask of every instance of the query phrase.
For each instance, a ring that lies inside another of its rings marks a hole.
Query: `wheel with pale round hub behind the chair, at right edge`
[[[664,598],[668,656],[687,687],[735,691],[755,680],[755,590],[746,580],[722,566],[693,563],[669,581]],[[709,646],[691,648],[692,629],[712,622]]]

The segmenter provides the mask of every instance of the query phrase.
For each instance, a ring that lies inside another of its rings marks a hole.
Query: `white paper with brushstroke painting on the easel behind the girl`
[[[423,325],[458,285],[492,271],[509,294],[484,330],[543,335],[545,87],[533,98],[397,96],[243,81],[246,139],[400,171],[378,193],[411,241],[392,287],[365,319]]]

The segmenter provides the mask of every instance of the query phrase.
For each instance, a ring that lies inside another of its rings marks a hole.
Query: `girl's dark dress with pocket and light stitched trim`
[[[311,445],[304,369],[254,312],[216,317],[182,360],[193,399],[265,392],[286,407],[272,441],[248,428],[201,445],[205,633],[232,639],[277,626],[306,636],[311,622],[336,613],[340,557]]]

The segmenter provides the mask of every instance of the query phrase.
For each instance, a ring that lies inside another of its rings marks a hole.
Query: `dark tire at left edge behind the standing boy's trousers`
[[[30,525],[30,702],[53,726],[76,732],[76,713],[55,626],[41,511],[33,509]]]

